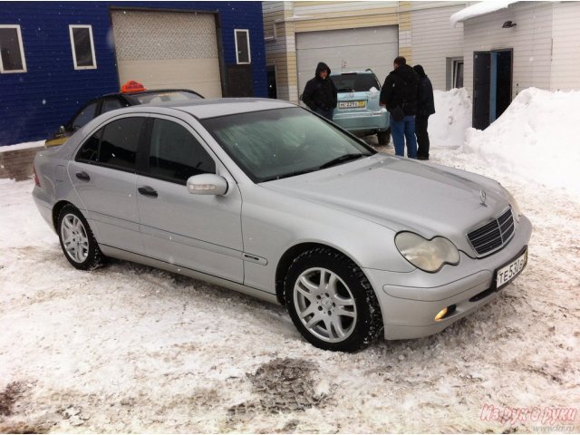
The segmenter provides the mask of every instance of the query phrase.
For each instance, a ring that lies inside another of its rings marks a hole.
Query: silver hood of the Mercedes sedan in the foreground
[[[393,231],[448,237],[465,252],[472,252],[466,234],[509,206],[496,181],[380,154],[262,186]]]

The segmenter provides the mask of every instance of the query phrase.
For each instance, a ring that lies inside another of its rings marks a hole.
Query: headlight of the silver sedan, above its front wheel
[[[445,237],[427,240],[408,231],[395,237],[395,245],[411,265],[425,272],[437,272],[443,265],[458,265],[459,251]]]

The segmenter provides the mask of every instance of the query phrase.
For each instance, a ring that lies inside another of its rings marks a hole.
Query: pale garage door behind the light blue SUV
[[[382,84],[398,51],[396,25],[296,34],[298,92],[314,77],[319,62],[333,73],[371,68]]]

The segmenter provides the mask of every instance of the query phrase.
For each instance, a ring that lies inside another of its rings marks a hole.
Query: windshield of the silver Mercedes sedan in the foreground
[[[203,120],[227,154],[259,183],[329,168],[375,153],[299,107]]]

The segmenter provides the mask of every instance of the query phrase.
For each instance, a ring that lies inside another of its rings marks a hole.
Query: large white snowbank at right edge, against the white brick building
[[[485,131],[469,128],[459,153],[520,181],[535,181],[580,197],[580,92],[520,92]]]

